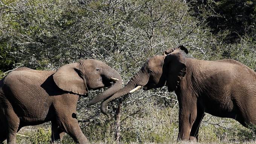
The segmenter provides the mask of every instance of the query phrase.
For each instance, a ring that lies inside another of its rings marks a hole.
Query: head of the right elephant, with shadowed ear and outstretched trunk
[[[148,59],[140,71],[122,89],[101,104],[102,113],[107,114],[109,102],[142,87],[143,90],[149,90],[167,85],[168,91],[174,91],[186,74],[187,53],[187,49],[181,45],[166,50],[163,56]]]

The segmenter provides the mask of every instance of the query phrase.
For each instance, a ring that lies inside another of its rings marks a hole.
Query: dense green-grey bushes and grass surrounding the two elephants
[[[0,77],[17,67],[56,70],[79,59],[98,59],[116,69],[126,83],[146,59],[184,45],[189,57],[235,59],[256,71],[254,0],[1,0]],[[114,143],[114,110],[78,103],[85,136]],[[47,143],[50,124],[21,129],[20,143]],[[34,129],[32,129],[34,128]],[[27,130],[27,129],[32,129]],[[121,142],[175,143],[178,104],[166,87],[137,91],[122,99]],[[238,122],[206,115],[199,141],[255,141]],[[62,143],[72,139],[65,136]]]

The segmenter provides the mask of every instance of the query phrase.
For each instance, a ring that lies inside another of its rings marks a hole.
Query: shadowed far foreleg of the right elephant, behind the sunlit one
[[[195,119],[195,122],[190,132],[190,136],[189,136],[190,141],[198,140],[198,131],[203,118],[204,118],[204,110],[197,108],[197,118]]]

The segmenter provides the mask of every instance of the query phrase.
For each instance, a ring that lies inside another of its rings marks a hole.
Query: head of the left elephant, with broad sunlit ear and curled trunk
[[[53,80],[62,90],[81,95],[88,95],[90,89],[111,86],[111,82],[114,82],[113,86],[98,96],[99,99],[110,97],[122,87],[120,74],[95,59],[64,65],[53,74]]]

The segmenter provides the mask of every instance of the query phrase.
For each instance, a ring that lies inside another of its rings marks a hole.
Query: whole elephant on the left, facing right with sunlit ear
[[[114,82],[110,78],[119,79]],[[111,86],[111,82],[114,85]],[[81,60],[57,71],[18,68],[0,80],[0,142],[15,144],[24,126],[52,123],[52,142],[68,133],[75,142],[87,144],[76,119],[76,103],[90,89],[111,86],[99,95],[106,99],[122,87],[119,73],[101,61]]]

